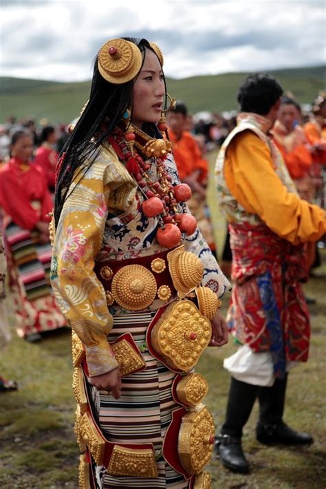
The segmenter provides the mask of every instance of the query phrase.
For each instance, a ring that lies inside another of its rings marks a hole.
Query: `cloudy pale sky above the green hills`
[[[325,0],[0,0],[1,75],[87,80],[100,45],[144,37],[167,76],[325,63]]]

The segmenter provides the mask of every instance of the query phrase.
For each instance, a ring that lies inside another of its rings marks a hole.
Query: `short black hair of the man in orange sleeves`
[[[268,74],[250,74],[241,83],[237,101],[241,112],[265,116],[283,94],[281,85]]]

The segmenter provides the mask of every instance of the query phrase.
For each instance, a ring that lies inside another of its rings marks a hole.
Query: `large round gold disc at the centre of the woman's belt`
[[[147,268],[126,265],[113,277],[111,292],[115,301],[124,309],[140,311],[153,303],[157,285]]]

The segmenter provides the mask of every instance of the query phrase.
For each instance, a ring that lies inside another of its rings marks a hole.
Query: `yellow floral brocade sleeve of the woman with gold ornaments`
[[[56,229],[51,281],[58,305],[85,345],[90,376],[118,367],[107,334],[112,316],[94,273],[109,199],[108,165],[96,160],[70,188]]]

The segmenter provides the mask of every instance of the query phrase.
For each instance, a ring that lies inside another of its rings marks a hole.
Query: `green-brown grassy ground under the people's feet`
[[[215,155],[211,155],[213,162]],[[210,204],[214,210],[213,186]],[[213,214],[218,241],[224,223]],[[323,253],[326,263],[326,253]],[[326,266],[323,267],[324,272]],[[254,439],[257,406],[245,428],[243,447],[252,465],[249,475],[235,475],[213,458],[209,470],[213,489],[325,489],[325,279],[305,285],[316,305],[310,309],[312,345],[309,362],[290,373],[285,421],[308,431],[315,442],[309,448],[267,448]],[[228,298],[224,299],[226,312]],[[210,384],[206,404],[217,428],[224,418],[228,373],[222,365],[235,351],[230,342],[207,349],[197,371]],[[0,394],[0,487],[3,489],[77,489],[78,450],[73,432],[74,398],[69,332],[49,334],[30,345],[14,335],[0,354],[0,373],[19,382],[19,391]]]

